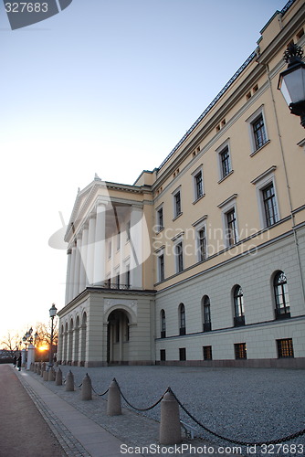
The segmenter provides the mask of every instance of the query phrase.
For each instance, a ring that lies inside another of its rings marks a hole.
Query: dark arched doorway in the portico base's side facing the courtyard
[[[127,313],[114,310],[108,317],[107,325],[107,362],[121,364],[129,361],[129,328]]]

